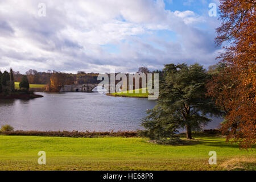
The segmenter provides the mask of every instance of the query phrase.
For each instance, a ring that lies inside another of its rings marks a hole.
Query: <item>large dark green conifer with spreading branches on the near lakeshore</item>
[[[205,84],[209,75],[199,64],[164,66],[158,103],[148,110],[149,115],[143,119],[142,126],[151,139],[168,138],[184,128],[187,138],[191,139],[192,130],[210,121],[208,114],[221,114],[214,101],[206,97]]]

